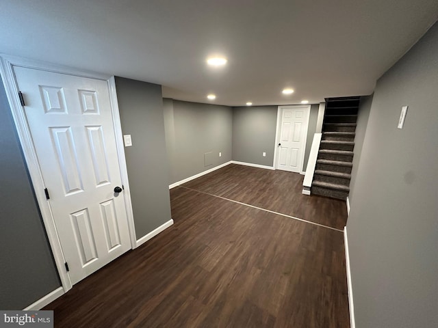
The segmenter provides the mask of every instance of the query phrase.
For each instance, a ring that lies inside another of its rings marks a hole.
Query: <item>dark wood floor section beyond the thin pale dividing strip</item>
[[[182,187],[229,198],[292,217],[344,229],[346,202],[318,195],[302,195],[304,176],[279,170],[231,164]]]

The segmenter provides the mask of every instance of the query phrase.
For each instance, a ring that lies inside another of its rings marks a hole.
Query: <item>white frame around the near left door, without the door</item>
[[[110,91],[111,100],[111,111],[112,118],[114,122],[114,131],[116,133],[116,147],[118,153],[118,163],[120,165],[120,176],[122,178],[123,186],[125,187],[125,208],[129,226],[129,236],[131,238],[131,248],[134,249],[136,245],[136,231],[133,221],[133,211],[131,204],[131,193],[129,189],[128,172],[125,160],[125,149],[123,146],[123,136],[122,128],[120,124],[120,115],[118,111],[118,102],[116,94],[116,83],[114,77],[107,76],[105,74],[99,74],[94,72],[86,72],[81,70],[76,70],[73,68],[68,68],[64,66],[57,66],[53,64],[43,63],[39,61],[33,61],[29,59],[23,59],[18,57],[12,57],[8,55],[0,55],[0,74],[3,79],[3,85],[5,86],[6,96],[12,111],[12,117],[14,118],[14,124],[16,126],[16,131],[18,133],[18,138],[20,139],[21,147],[23,148],[23,154],[25,156],[25,161],[27,163],[27,168],[29,169],[29,175],[31,178],[32,185],[34,186],[36,200],[38,201],[38,206],[41,211],[42,221],[44,222],[44,227],[47,232],[47,237],[49,238],[49,244],[53,252],[53,258],[55,259],[55,264],[57,272],[60,275],[62,288],[64,292],[67,292],[72,288],[72,283],[70,277],[66,271],[64,263],[64,254],[62,253],[62,247],[60,239],[57,235],[55,221],[53,220],[53,215],[51,213],[51,208],[49,202],[46,200],[46,195],[44,193],[44,180],[42,179],[42,173],[40,165],[38,163],[38,158],[36,156],[36,150],[34,148],[34,143],[32,142],[31,133],[29,126],[27,125],[27,120],[21,102],[18,99],[18,84],[16,83],[14,66],[21,66],[25,68],[35,68],[38,70],[46,70],[49,72],[57,72],[62,74],[70,74],[78,77],[88,77],[91,79],[99,79],[107,81],[108,89]]]

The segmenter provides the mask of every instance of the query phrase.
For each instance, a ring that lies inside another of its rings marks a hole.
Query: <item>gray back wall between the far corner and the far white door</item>
[[[277,111],[278,106],[233,107],[233,161],[273,165]]]

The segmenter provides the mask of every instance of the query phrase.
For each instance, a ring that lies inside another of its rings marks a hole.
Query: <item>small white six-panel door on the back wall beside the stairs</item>
[[[281,107],[276,169],[302,172],[309,106]]]

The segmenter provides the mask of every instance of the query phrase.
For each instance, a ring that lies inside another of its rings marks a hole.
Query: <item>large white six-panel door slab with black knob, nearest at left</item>
[[[72,284],[130,249],[106,81],[14,67]]]

